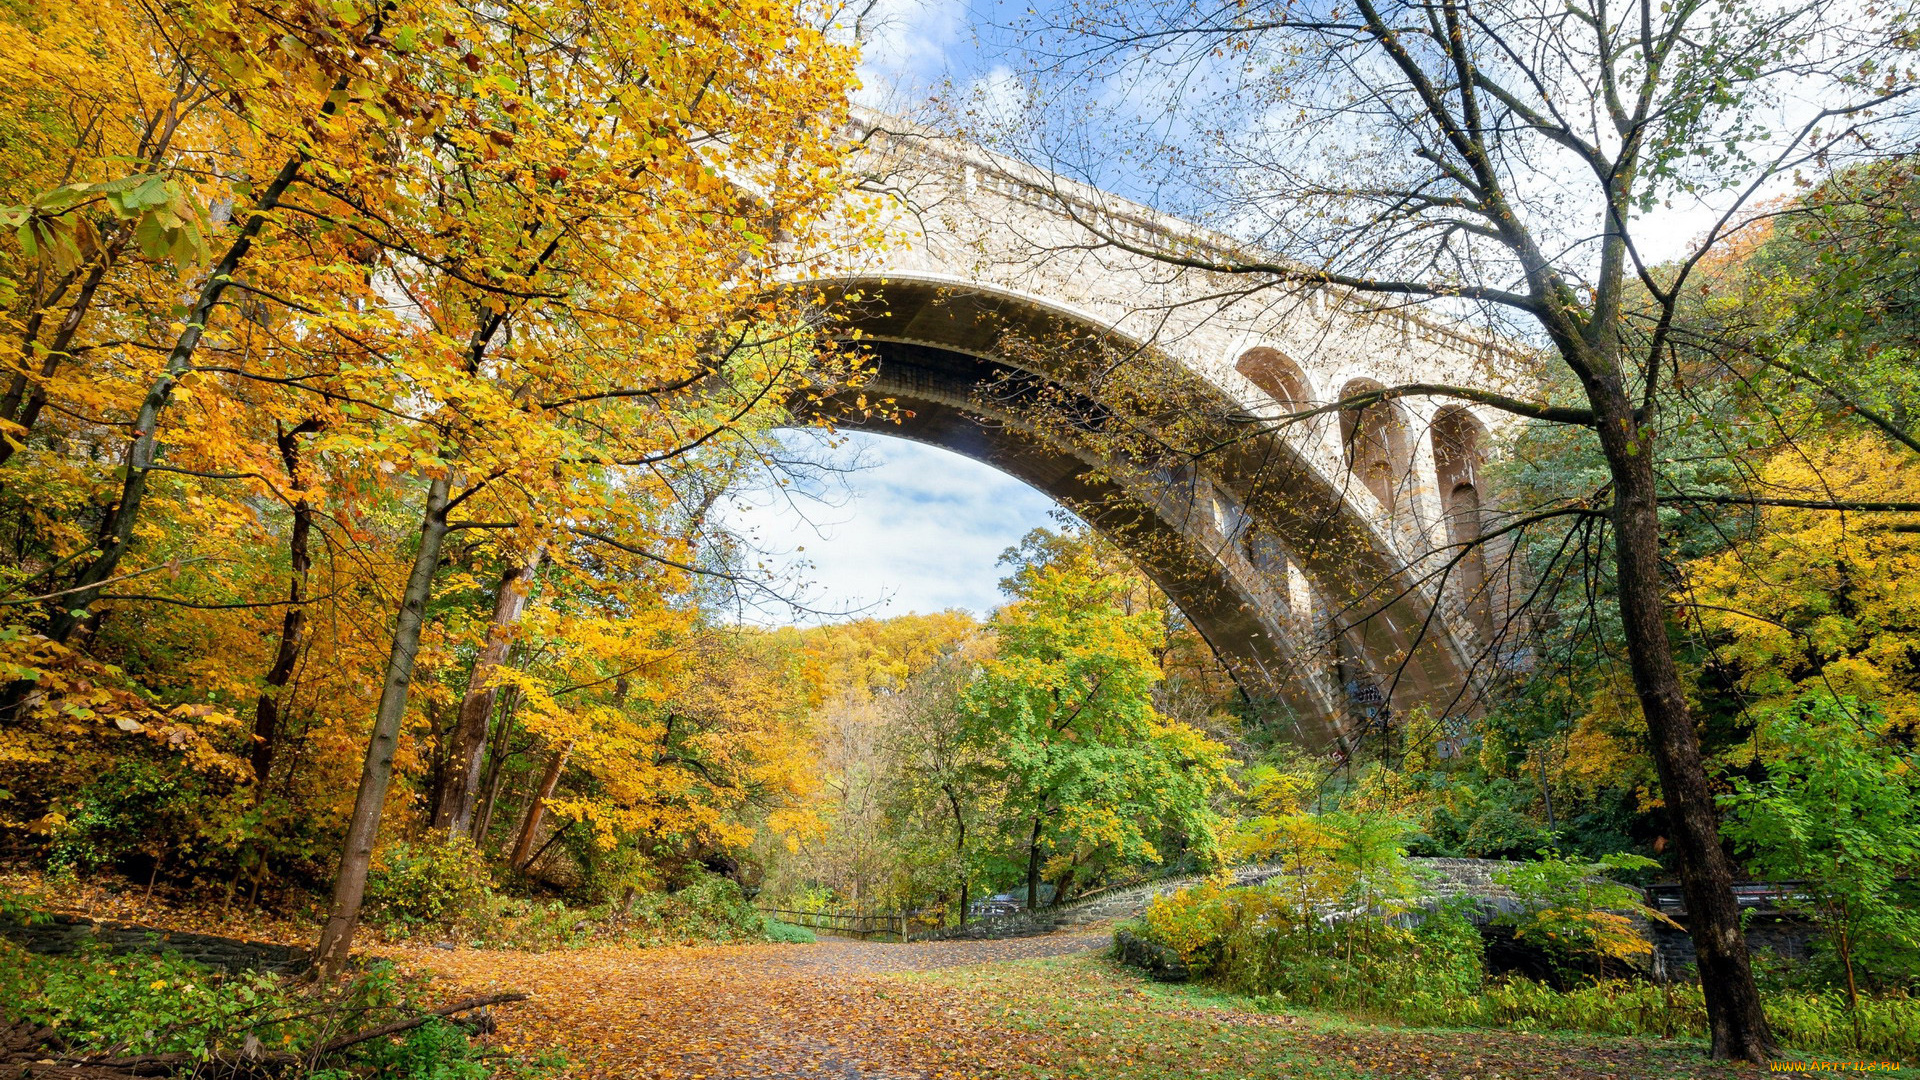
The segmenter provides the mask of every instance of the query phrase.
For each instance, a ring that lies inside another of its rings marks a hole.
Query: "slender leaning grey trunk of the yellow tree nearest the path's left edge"
[[[440,569],[440,546],[447,536],[447,492],[451,484],[436,479],[426,488],[426,513],[420,519],[420,548],[413,555],[407,592],[399,598],[399,617],[394,621],[394,644],[386,657],[386,678],[380,684],[380,707],[374,713],[372,738],[367,742],[367,761],[361,765],[359,794],[353,798],[353,817],[340,851],[340,874],[334,878],[334,905],[321,930],[315,949],[323,978],[338,974],[353,947],[353,928],[359,922],[361,899],[367,896],[367,869],[372,863],[374,838],[380,832],[380,809],[386,805],[386,786],[394,778],[394,749],[399,744],[399,724],[407,717],[407,690],[413,684],[413,657],[420,651],[420,628],[426,625],[426,601],[434,592],[434,571]]]

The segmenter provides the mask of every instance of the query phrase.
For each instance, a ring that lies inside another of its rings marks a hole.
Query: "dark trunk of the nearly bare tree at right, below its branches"
[[[1596,402],[1597,404],[1597,402]],[[1688,934],[1699,957],[1713,1055],[1766,1061],[1774,1040],[1761,1007],[1747,938],[1740,930],[1734,874],[1720,847],[1720,817],[1707,784],[1699,736],[1688,711],[1672,642],[1667,638],[1667,582],[1661,577],[1653,432],[1632,419],[1626,396],[1601,411],[1599,438],[1613,475],[1615,573],[1620,626],[1634,690],[1647,719],[1661,796],[1678,842]]]

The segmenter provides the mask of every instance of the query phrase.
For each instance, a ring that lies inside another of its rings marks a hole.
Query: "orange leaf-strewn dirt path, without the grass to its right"
[[[973,1076],[950,1061],[970,1057],[983,1032],[964,994],[874,976],[1083,953],[1110,940],[382,951],[461,990],[534,994],[501,1011],[499,1040],[557,1047],[578,1078],[922,1080]]]

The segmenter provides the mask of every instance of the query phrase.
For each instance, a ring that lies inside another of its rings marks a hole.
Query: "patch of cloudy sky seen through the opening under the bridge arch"
[[[814,438],[806,432],[793,442]],[[1050,525],[1054,502],[989,465],[889,436],[841,432],[816,457],[849,469],[826,498],[760,488],[735,500],[728,525],[749,532],[772,567],[812,582],[808,605],[904,615],[1000,603],[1000,552]],[[804,565],[803,565],[804,563]],[[789,619],[783,611],[768,617]]]

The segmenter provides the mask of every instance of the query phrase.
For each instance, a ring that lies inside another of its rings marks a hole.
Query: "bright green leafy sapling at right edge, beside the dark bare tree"
[[[1857,701],[1809,696],[1761,732],[1766,776],[1734,780],[1726,836],[1755,872],[1805,880],[1803,909],[1828,932],[1849,984],[1920,974],[1920,761]]]

